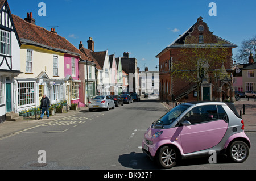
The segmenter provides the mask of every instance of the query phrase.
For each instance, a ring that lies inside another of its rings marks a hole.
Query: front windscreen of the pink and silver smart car
[[[164,128],[165,125],[170,125],[174,120],[177,119],[183,113],[187,108],[189,108],[189,105],[183,105],[180,104],[174,108],[172,108],[171,111],[166,113],[163,117],[161,117],[159,120],[155,121],[153,124],[157,124],[158,126]]]

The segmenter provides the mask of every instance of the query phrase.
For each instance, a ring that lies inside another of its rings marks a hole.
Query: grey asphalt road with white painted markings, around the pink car
[[[156,100],[125,104],[114,110],[80,112],[77,115],[27,129],[0,140],[0,169],[159,169],[145,154],[141,143],[146,129],[167,108]],[[244,163],[217,158],[181,161],[172,170],[256,169],[256,133],[248,132],[252,147]],[[46,153],[47,165],[38,165],[39,150]]]

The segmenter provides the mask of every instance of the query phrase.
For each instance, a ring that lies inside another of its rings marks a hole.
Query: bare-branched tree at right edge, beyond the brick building
[[[248,40],[243,40],[238,53],[236,54],[237,62],[242,64],[248,63],[248,58],[250,54],[254,55],[254,61],[256,57],[256,36]]]

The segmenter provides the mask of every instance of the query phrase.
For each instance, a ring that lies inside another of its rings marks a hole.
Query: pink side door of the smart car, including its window
[[[228,128],[228,123],[218,116],[216,105],[195,107],[182,121],[191,123],[181,126],[181,145],[184,154],[216,146]]]

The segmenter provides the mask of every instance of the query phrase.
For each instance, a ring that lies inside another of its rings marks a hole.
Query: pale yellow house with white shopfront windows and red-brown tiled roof
[[[35,25],[32,13],[24,20],[13,15],[20,43],[20,71],[15,78],[18,92],[17,110],[40,106],[43,94],[51,104],[65,100],[65,85],[70,77],[65,76],[65,55],[79,57],[80,52],[55,29],[48,31]],[[77,59],[78,60],[78,59]]]

